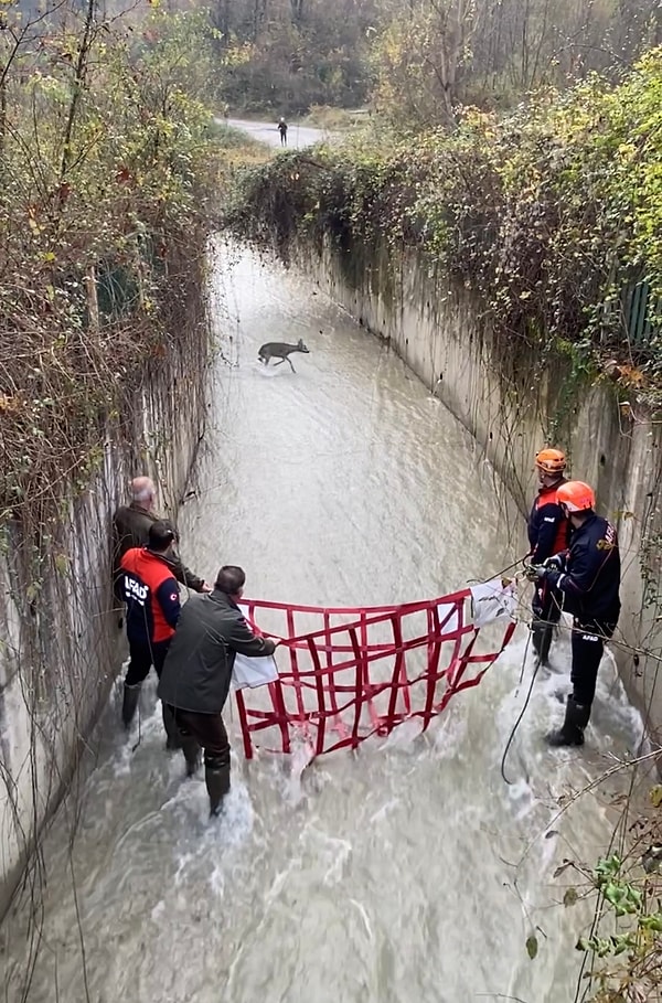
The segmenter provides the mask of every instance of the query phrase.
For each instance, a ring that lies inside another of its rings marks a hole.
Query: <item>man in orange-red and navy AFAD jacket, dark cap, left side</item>
[[[149,527],[148,545],[131,547],[121,558],[130,654],[121,705],[121,718],[126,728],[130,727],[134,719],[140,689],[151,666],[154,666],[157,675],[161,675],[179,619],[179,585],[169,559],[173,543],[172,527],[166,522],[153,522]],[[179,747],[174,721],[166,707],[163,724],[169,747]]]

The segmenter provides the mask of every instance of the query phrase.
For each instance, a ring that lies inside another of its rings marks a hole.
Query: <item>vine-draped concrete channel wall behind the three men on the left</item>
[[[113,612],[113,512],[129,480],[151,474],[174,515],[204,427],[206,335],[182,335],[168,364],[147,373],[129,427],[109,420],[88,484],[64,504],[42,556],[12,525],[0,554],[0,917],[35,837],[57,807],[124,658]],[[45,556],[43,556],[45,554]],[[185,557],[185,553],[183,554]],[[33,858],[33,857],[32,857]]]

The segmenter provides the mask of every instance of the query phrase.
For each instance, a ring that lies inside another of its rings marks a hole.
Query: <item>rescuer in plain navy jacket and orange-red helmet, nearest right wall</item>
[[[568,481],[557,491],[573,526],[570,548],[534,570],[563,595],[563,608],[574,617],[573,692],[565,721],[547,735],[552,746],[584,745],[605,641],[613,634],[620,615],[620,553],[611,523],[595,513],[588,484]],[[552,566],[549,566],[552,565]]]

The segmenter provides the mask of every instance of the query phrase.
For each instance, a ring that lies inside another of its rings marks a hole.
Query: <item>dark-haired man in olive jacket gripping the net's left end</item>
[[[158,694],[174,714],[189,776],[204,749],[204,779],[211,814],[229,790],[229,743],[221,712],[229,693],[235,657],[264,658],[276,643],[253,633],[237,602],[246,575],[225,565],[209,596],[192,596],[182,607],[161,672]]]

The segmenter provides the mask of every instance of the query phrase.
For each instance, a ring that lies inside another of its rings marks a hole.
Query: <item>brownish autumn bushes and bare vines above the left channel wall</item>
[[[195,316],[214,145],[200,15],[2,11],[4,521],[85,482],[108,417]]]

